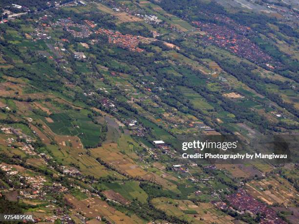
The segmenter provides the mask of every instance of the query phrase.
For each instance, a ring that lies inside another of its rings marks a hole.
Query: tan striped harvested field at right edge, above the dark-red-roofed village
[[[277,179],[277,180],[276,180]],[[297,190],[287,180],[278,176],[274,178],[251,181],[246,183],[248,193],[259,198],[266,204],[283,204],[284,206],[295,206],[299,200]]]

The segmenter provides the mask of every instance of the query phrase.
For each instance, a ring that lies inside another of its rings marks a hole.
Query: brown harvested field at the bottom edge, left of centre
[[[97,216],[105,216],[108,221],[116,224],[138,224],[141,220],[133,220],[124,213],[110,207],[100,198],[88,198],[82,201],[77,200],[72,195],[64,196],[66,202],[71,204],[77,212],[82,212],[87,218],[95,218]],[[88,206],[88,207],[87,207]]]

